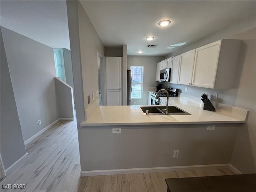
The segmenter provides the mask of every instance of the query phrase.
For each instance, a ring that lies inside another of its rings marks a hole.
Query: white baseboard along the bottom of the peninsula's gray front
[[[152,167],[152,168],[132,168],[132,169],[112,169],[112,170],[93,170],[81,171],[82,177],[96,175],[116,175],[116,174],[133,174],[133,173],[152,173],[152,172],[172,172],[172,171],[189,171],[202,169],[224,169],[229,168],[230,164],[213,164],[213,165],[191,165],[175,167]]]

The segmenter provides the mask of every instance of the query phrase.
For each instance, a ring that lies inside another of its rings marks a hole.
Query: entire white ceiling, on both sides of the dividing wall
[[[165,56],[177,49],[166,48],[172,44],[192,43],[256,12],[256,1],[80,2],[104,46],[127,44],[128,55]],[[158,26],[165,19],[171,25]],[[1,26],[50,47],[70,49],[65,1],[1,0]],[[147,36],[155,39],[148,42]]]

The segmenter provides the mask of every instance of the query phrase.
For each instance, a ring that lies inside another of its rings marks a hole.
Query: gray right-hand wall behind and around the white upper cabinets
[[[179,88],[182,93],[200,97],[202,93],[212,95],[218,92],[216,101],[249,110],[248,122],[238,130],[232,164],[242,173],[256,172],[256,28],[255,18],[247,18],[218,32],[215,32],[193,44],[190,44],[166,57],[178,55],[202,45],[220,40],[223,38],[242,39],[240,54],[236,68],[236,78],[232,89],[208,89],[193,86],[167,84]]]

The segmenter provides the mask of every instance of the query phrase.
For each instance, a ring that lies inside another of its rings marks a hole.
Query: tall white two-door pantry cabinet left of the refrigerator
[[[122,105],[122,57],[105,57],[107,105]]]

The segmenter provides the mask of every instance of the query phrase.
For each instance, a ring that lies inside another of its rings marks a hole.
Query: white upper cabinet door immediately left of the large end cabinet
[[[180,55],[178,84],[190,85],[192,80],[195,49]]]

